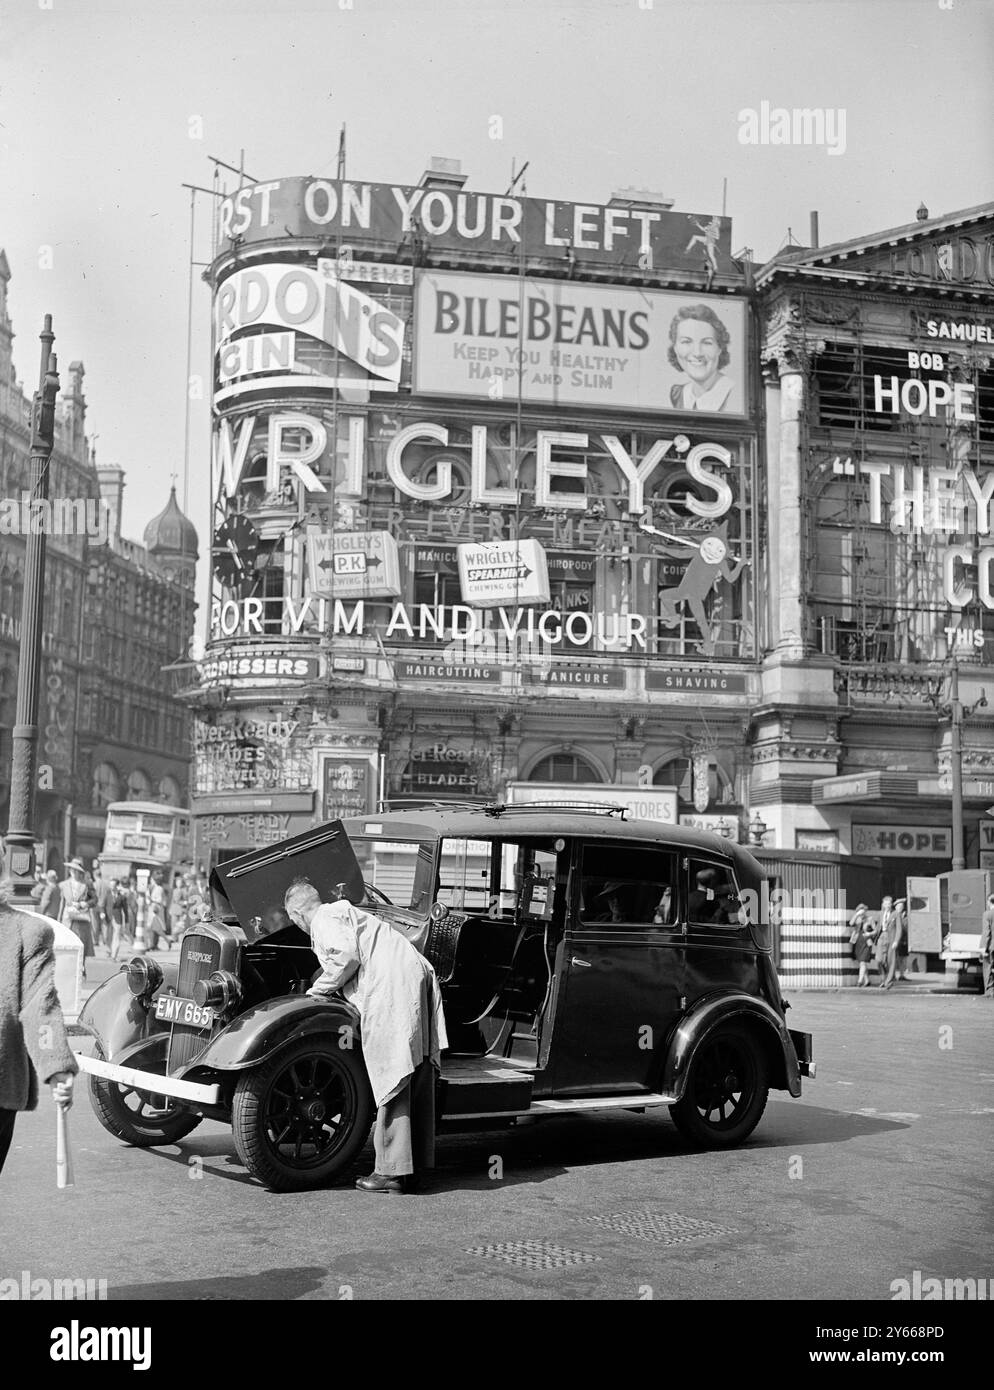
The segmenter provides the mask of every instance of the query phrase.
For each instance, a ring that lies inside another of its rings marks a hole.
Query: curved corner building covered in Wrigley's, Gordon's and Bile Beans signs
[[[730,224],[463,183],[221,204],[202,856],[620,788],[741,834],[760,392]]]

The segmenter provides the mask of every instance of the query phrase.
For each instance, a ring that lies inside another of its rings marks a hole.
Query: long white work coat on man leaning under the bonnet
[[[449,1045],[435,972],[382,917],[350,902],[323,903],[310,923],[323,974],[307,991],[341,990],[363,1024],[363,1056],[377,1105],[392,1099],[424,1061]]]

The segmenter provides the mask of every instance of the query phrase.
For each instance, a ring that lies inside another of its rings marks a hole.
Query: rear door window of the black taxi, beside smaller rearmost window
[[[584,926],[670,926],[676,915],[677,858],[649,845],[584,845],[580,920]]]

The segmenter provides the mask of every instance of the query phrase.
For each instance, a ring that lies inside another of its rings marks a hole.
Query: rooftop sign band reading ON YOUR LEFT
[[[570,247],[581,264],[740,275],[731,259],[731,218],[674,213],[619,195],[614,206],[557,199],[509,197],[405,183],[350,179],[271,179],[221,200],[221,250],[288,236],[356,246],[384,243],[392,254],[405,240],[430,250],[548,256],[562,264]]]

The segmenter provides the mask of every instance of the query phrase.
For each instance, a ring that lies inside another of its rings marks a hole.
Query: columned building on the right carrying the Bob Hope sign
[[[781,851],[869,856],[876,906],[954,866],[954,720],[966,866],[994,866],[994,206],[791,247],[756,289],[772,641],[751,798]],[[824,929],[795,967],[840,952]]]

